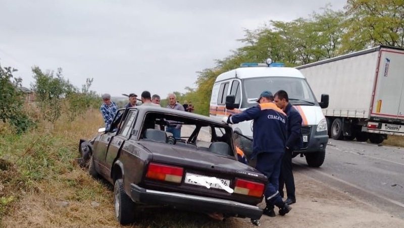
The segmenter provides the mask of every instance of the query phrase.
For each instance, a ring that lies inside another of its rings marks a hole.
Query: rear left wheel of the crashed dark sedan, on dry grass
[[[125,225],[135,221],[135,203],[126,195],[122,179],[115,181],[114,207],[115,218],[120,224]]]

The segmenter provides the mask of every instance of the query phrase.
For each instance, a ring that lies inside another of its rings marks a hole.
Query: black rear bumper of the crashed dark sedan
[[[239,203],[231,200],[194,196],[174,192],[161,192],[130,185],[130,196],[133,201],[152,205],[171,205],[176,208],[196,212],[218,212],[231,216],[260,219],[263,211],[258,206]]]

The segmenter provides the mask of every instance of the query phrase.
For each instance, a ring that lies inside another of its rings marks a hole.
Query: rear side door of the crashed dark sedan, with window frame
[[[130,109],[125,116],[125,120],[119,129],[119,132],[116,136],[113,136],[108,147],[107,156],[105,159],[105,163],[107,166],[107,170],[109,173],[111,172],[111,167],[114,164],[115,159],[117,158],[119,151],[122,148],[122,145],[129,138],[131,130],[133,128],[133,124],[135,122],[137,115],[137,109]]]

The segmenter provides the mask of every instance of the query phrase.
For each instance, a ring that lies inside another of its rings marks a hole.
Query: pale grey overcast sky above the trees
[[[94,78],[98,93],[185,92],[197,71],[215,66],[241,46],[244,29],[270,20],[308,17],[326,3],[281,1],[18,1],[0,0],[0,64],[18,69],[23,86],[31,67],[56,70],[77,87]]]

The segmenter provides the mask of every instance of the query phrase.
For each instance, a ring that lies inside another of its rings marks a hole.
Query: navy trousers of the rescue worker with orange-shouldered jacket
[[[279,195],[279,174],[281,172],[283,152],[259,153],[257,155],[256,169],[268,178],[265,190],[265,202],[268,207],[283,207],[282,198]]]

